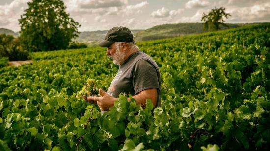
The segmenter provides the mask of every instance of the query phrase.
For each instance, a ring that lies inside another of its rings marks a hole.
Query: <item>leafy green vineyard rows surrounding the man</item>
[[[159,65],[162,106],[120,95],[100,116],[76,98],[88,78],[107,90],[106,49],[33,54],[0,69],[0,151],[269,150],[270,24],[138,43]]]

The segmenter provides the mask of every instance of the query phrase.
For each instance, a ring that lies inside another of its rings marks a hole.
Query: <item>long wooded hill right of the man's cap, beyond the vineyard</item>
[[[251,24],[228,24],[230,28],[237,28]],[[227,29],[222,27],[221,29]],[[202,23],[176,23],[176,24],[162,24],[152,28],[137,32],[135,34],[136,41],[148,41],[156,39],[164,39],[171,37],[178,37],[189,34],[203,33]]]

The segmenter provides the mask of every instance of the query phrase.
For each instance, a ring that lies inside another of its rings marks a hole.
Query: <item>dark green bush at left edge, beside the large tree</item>
[[[10,61],[30,59],[29,52],[23,50],[19,39],[12,35],[0,35],[0,57],[8,57]]]

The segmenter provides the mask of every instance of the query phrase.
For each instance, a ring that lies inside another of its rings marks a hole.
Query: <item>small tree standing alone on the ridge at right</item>
[[[205,30],[219,30],[219,25],[223,25],[226,27],[229,27],[224,22],[224,18],[228,19],[231,14],[225,13],[224,7],[212,9],[208,14],[203,13],[203,17],[201,19],[202,22],[204,22],[204,29]]]

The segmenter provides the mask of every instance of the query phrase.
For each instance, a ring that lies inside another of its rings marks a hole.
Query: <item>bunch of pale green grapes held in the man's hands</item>
[[[98,96],[99,90],[95,79],[87,79],[86,84],[83,85],[81,91],[77,92],[76,98],[83,99],[86,96]]]

